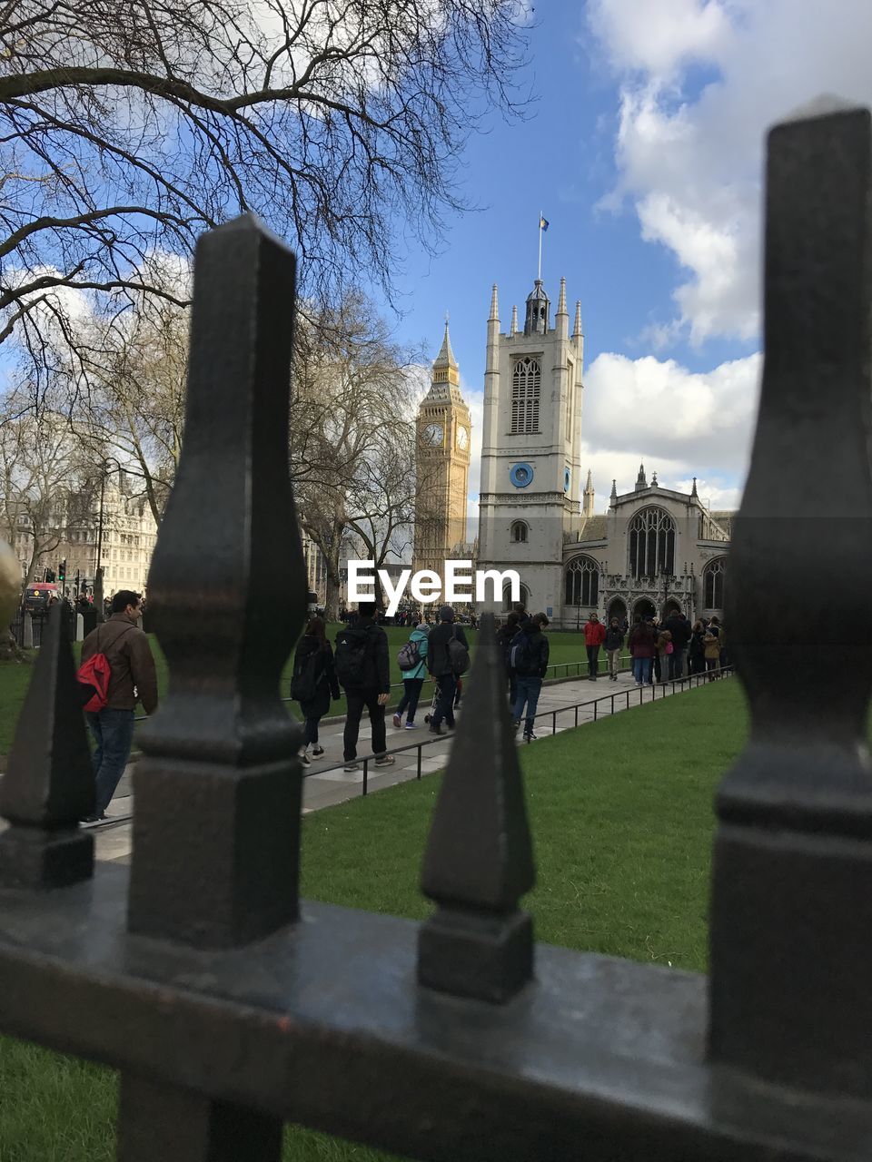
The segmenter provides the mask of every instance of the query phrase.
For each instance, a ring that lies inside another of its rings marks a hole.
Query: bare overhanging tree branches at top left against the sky
[[[336,302],[439,239],[465,141],[519,113],[519,0],[0,0],[0,342],[37,388],[79,295],[116,308],[149,256],[263,216]]]

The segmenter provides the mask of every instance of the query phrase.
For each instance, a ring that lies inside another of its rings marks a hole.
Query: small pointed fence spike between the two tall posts
[[[519,901],[536,871],[494,618],[476,662],[442,783],[421,888],[438,909],[419,935],[419,982],[503,1003],[533,976],[533,921]]]

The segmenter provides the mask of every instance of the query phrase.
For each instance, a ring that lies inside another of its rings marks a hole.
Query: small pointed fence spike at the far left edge
[[[63,888],[93,873],[94,840],[79,819],[94,810],[81,698],[60,602],[49,611],[0,786],[0,883]]]

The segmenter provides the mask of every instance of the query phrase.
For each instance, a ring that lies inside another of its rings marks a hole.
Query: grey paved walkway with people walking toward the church
[[[681,689],[682,687],[677,687],[676,693],[680,693]],[[652,690],[655,691],[655,696],[657,698],[672,696],[671,683],[667,683],[666,686],[645,687],[642,691],[642,696],[645,702],[651,701]],[[563,712],[558,712],[556,715],[556,719],[550,717],[550,715],[553,715],[555,711],[560,711],[562,706],[572,706],[578,702],[589,702],[594,698],[603,696],[607,698],[607,701],[600,702],[595,709],[593,705],[579,706],[579,726],[582,723],[593,722],[594,718],[608,717],[612,713],[613,695],[615,713],[621,710],[626,710],[628,704],[629,706],[637,706],[639,704],[639,690],[629,673],[619,675],[616,682],[610,682],[607,677],[600,676],[596,682],[591,682],[586,679],[572,679],[569,682],[556,682],[551,686],[543,687],[537,713],[548,712],[549,717],[537,718],[536,734],[539,738],[545,738],[549,734],[559,734],[564,730],[571,730],[574,727],[577,717],[574,710],[564,710]],[[417,717],[421,725],[417,730],[394,730],[391,725],[391,720],[388,719],[388,749],[426,741],[431,737],[423,723],[423,713],[426,712],[424,706],[426,704],[422,704],[419,710]],[[458,712],[458,717],[462,713],[463,706]],[[344,803],[351,798],[358,798],[363,792],[363,769],[356,772],[345,772],[342,769],[342,723],[321,726],[321,745],[324,748],[324,754],[321,759],[313,760],[312,766],[307,769],[306,777],[303,779],[303,815],[308,815],[310,811],[317,811],[324,806],[333,806],[336,803]],[[422,776],[433,774],[435,770],[442,770],[444,768],[448,755],[451,751],[451,741],[452,736],[448,734],[444,738],[428,743],[422,747]],[[523,744],[519,737],[519,745],[527,744]],[[534,743],[531,745],[535,746],[536,744]],[[357,752],[358,761],[360,761],[362,756],[372,753],[370,748],[370,726],[366,718],[364,718],[360,724],[360,740],[358,743]],[[381,790],[385,787],[393,787],[395,783],[402,783],[407,782],[409,779],[415,779],[417,775],[417,747],[413,747],[403,754],[398,754],[396,765],[391,767],[388,770],[377,770],[372,763],[369,763],[367,792]],[[109,804],[109,809],[107,811],[109,818],[116,819],[117,823],[103,824],[100,827],[93,829],[97,841],[98,859],[119,860],[121,862],[127,862],[129,860],[131,845],[130,817],[134,805],[130,770],[131,767],[128,767],[123,779],[119,783],[115,798]]]

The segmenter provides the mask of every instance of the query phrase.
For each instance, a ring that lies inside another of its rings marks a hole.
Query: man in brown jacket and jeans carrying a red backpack
[[[97,744],[93,754],[97,810],[85,823],[106,818],[134,741],[134,708],[142,702],[146,715],[157,710],[157,675],[149,639],[140,629],[140,594],[120,589],[112,598],[108,622],[88,633],[81,645],[81,661],[106,654],[110,676],[106,705],[87,713]]]

